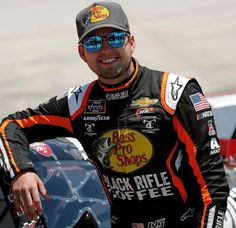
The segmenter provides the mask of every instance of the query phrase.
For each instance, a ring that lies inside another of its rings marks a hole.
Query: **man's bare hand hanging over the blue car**
[[[48,198],[43,182],[32,171],[24,170],[12,180],[12,193],[16,211],[30,220],[37,220],[43,208],[39,193]]]

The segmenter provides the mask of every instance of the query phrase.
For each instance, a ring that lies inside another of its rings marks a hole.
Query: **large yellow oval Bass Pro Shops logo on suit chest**
[[[150,141],[140,132],[127,128],[106,132],[94,149],[104,168],[119,173],[131,173],[142,168],[153,154]]]

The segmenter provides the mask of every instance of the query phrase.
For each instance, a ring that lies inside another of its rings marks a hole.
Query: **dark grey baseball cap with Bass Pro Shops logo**
[[[94,2],[76,16],[79,40],[98,28],[111,27],[130,33],[128,18],[118,3]]]

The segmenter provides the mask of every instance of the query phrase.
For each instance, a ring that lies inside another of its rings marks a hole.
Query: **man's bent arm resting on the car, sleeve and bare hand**
[[[72,136],[67,97],[50,99],[36,109],[9,115],[0,127],[2,164],[12,179],[12,193],[18,213],[30,219],[42,213],[39,194],[45,187],[34,170],[29,144],[48,138]]]

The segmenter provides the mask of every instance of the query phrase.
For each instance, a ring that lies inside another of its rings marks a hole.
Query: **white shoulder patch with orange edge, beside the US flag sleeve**
[[[161,104],[168,113],[174,114],[184,88],[190,79],[173,73],[164,73],[161,84]]]

